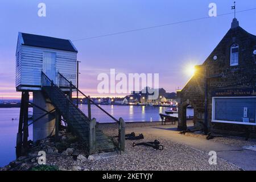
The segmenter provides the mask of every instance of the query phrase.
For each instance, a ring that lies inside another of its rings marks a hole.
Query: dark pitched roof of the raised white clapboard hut
[[[34,35],[21,33],[23,38],[23,45],[25,46],[34,46],[34,47],[43,47],[51,48],[63,51],[77,52],[75,46],[72,42],[67,39],[52,38],[49,36]]]

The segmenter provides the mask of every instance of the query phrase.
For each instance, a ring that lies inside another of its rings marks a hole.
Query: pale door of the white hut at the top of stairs
[[[44,52],[43,72],[56,83],[56,53]]]

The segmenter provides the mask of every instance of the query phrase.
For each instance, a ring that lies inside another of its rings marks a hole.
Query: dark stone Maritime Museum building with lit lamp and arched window
[[[195,75],[177,92],[179,130],[186,130],[186,109],[194,108],[196,127],[209,131],[255,130],[256,36],[233,19],[230,30]]]

